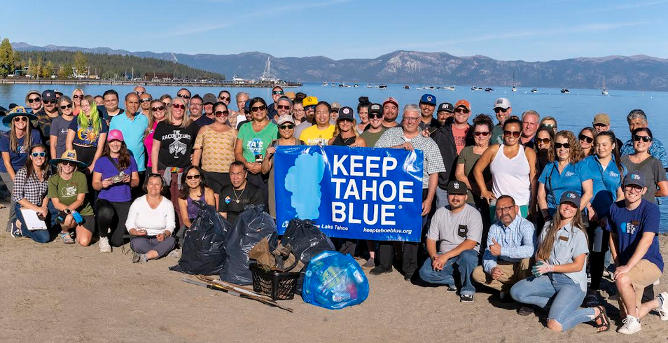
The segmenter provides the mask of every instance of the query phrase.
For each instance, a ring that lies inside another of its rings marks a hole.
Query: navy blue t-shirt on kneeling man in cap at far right
[[[624,201],[612,204],[606,230],[617,235],[620,264],[626,265],[629,262],[644,232],[654,232],[656,235],[643,256],[643,260],[654,263],[663,272],[663,258],[659,251],[659,237],[657,236],[660,216],[659,207],[644,199],[633,211],[626,208]]]

